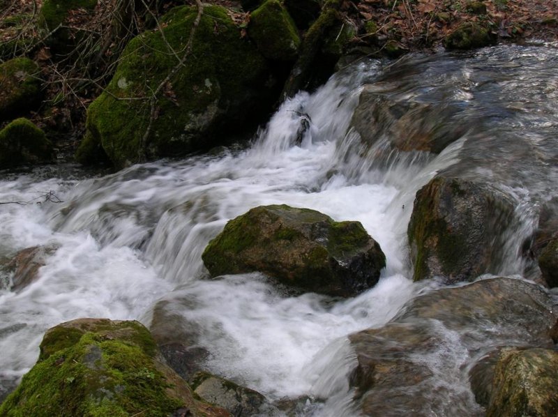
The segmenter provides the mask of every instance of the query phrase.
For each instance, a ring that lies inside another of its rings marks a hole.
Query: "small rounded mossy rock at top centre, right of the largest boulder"
[[[267,0],[250,15],[248,36],[267,59],[294,61],[301,38],[289,13],[278,0]]]

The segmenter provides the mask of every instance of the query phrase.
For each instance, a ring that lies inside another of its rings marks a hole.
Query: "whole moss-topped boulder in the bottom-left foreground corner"
[[[38,362],[0,415],[230,415],[195,400],[188,384],[157,357],[153,338],[137,321],[68,321],[47,331]]]

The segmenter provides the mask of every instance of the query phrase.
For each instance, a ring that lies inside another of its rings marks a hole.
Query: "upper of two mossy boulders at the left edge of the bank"
[[[34,109],[41,98],[39,67],[29,58],[0,64],[0,121]]]

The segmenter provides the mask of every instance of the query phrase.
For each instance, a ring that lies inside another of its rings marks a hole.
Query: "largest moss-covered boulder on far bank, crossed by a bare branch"
[[[223,131],[267,114],[277,94],[264,57],[241,38],[227,9],[204,6],[193,28],[197,13],[174,8],[161,20],[162,32],[128,43],[106,91],[87,111],[81,161],[99,147],[116,167],[209,149]]]

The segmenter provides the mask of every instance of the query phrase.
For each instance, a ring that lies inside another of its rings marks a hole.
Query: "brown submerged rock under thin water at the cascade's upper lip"
[[[393,149],[440,153],[470,128],[455,117],[460,110],[453,105],[440,109],[424,100],[389,96],[389,89],[389,80],[387,86],[366,84],[354,110],[351,127],[369,150],[382,146],[386,157]]]

